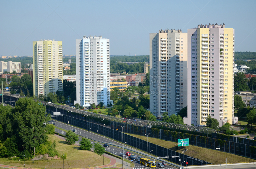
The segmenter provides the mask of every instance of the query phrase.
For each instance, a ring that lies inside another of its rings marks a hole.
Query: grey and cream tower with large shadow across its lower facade
[[[187,106],[187,33],[150,33],[150,112],[177,114]]]

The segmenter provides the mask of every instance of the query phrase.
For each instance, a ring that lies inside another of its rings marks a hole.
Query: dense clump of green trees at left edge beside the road
[[[23,157],[25,154],[39,154],[42,146],[49,144],[47,134],[54,132],[54,126],[48,124],[49,120],[45,106],[32,98],[18,99],[13,109],[0,105],[0,147],[2,150],[5,147],[7,151],[0,155]]]

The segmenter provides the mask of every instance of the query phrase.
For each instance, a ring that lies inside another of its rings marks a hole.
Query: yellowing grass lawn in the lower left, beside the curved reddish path
[[[100,156],[93,151],[78,150],[77,145],[65,144],[65,141],[54,135],[48,135],[48,140],[55,140],[56,149],[60,155],[67,154],[67,159],[64,159],[64,168],[70,168],[70,157],[72,168],[85,168],[90,165],[91,167],[103,165],[103,156]],[[109,164],[110,160],[104,158],[104,165]],[[12,165],[22,167],[24,161],[14,161],[8,158],[0,158],[0,164]],[[38,160],[38,161],[25,161],[25,166],[29,168],[63,168],[63,159],[59,160]]]

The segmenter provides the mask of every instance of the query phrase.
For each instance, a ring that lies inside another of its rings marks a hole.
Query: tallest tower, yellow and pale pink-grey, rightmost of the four
[[[188,29],[188,125],[234,120],[234,36],[225,24]]]

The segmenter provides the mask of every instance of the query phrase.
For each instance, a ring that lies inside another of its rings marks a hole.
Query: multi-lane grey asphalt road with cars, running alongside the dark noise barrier
[[[80,128],[76,128],[76,127],[70,126],[70,125],[65,124],[65,123],[62,123],[62,122],[58,122],[58,121],[52,120],[52,121],[49,121],[49,124],[51,124],[52,122],[55,122],[55,126],[56,126],[56,127],[59,127],[59,132],[58,132],[58,129],[55,128],[55,132],[57,132],[57,133],[60,133],[60,134],[61,134],[61,131],[62,131],[61,129],[64,129],[64,130],[76,129],[76,134],[78,134],[78,135],[80,135],[80,136],[85,136],[85,137],[87,137],[87,138],[90,138],[90,139],[92,139],[92,140],[95,140],[95,141],[97,141],[97,142],[100,142],[101,144],[102,144],[102,141],[103,141],[103,144],[108,144],[109,147],[106,147],[106,151],[111,152],[111,153],[113,153],[113,154],[115,154],[115,155],[117,155],[117,156],[120,156],[120,153],[123,153],[123,149],[122,149],[122,148],[119,148],[119,147],[115,147],[115,146],[110,145],[110,142],[112,142],[113,144],[116,144],[116,145],[119,145],[119,146],[123,146],[122,143],[116,142],[115,140],[106,138],[106,137],[101,136],[101,135],[98,135],[98,134],[96,134],[96,133],[89,132],[89,131],[87,131],[87,130],[83,130],[83,129],[80,129]],[[58,125],[58,123],[59,123],[59,125]],[[80,132],[81,132],[81,133],[80,133]],[[66,135],[66,132],[65,132],[65,131],[63,131],[63,135]],[[95,141],[92,141],[92,140],[91,140],[91,143],[94,143]],[[81,141],[81,137],[79,137],[79,140],[76,142],[76,145],[79,145],[79,142],[80,142],[80,141]],[[125,147],[129,147],[129,148],[132,148],[132,147],[127,146],[127,145],[125,145],[125,144],[124,144],[124,146],[125,146]],[[109,149],[108,149],[108,148],[109,148]],[[138,150],[137,150],[137,151],[138,151]],[[126,152],[128,152],[128,151],[126,151],[126,150],[124,149],[124,154],[125,154]],[[137,157],[138,157],[138,156],[145,157],[145,156],[142,156],[142,155],[140,155],[140,154],[136,154],[136,153],[131,152],[131,151],[129,151],[129,152],[130,152],[131,154],[137,156]],[[149,154],[148,154],[148,156],[149,156]],[[146,157],[146,158],[149,158],[149,157]],[[128,159],[128,160],[129,160],[129,156],[125,156],[124,159]],[[153,161],[154,159],[151,158],[151,160]],[[134,163],[134,169],[137,168],[137,167],[140,167],[140,168],[142,167],[142,165],[141,165],[139,162],[133,161],[133,163]],[[156,164],[157,164],[157,163],[158,163],[158,162],[156,162]],[[127,164],[127,162],[124,161],[124,165],[126,165],[126,164]],[[145,167],[145,166],[143,166],[143,167]],[[149,168],[149,167],[145,167],[145,168]],[[165,168],[166,168],[166,169],[175,169],[173,166],[170,166],[170,165],[166,165]]]

